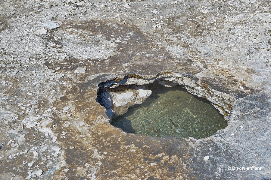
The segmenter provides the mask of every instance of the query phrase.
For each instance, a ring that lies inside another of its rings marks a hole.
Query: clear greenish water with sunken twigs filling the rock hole
[[[204,98],[188,93],[180,85],[166,88],[154,82],[142,104],[128,109],[111,124],[125,132],[154,137],[177,136],[200,139],[227,126],[222,115]]]

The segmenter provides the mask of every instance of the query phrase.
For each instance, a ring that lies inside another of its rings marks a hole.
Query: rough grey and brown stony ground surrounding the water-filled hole
[[[0,179],[270,179],[270,3],[0,1]],[[111,126],[98,88],[156,79],[228,126],[199,140]]]

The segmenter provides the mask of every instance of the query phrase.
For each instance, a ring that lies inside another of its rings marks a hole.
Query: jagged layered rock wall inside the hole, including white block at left
[[[143,85],[154,81],[166,87],[179,84],[191,94],[206,98],[227,120],[234,104],[234,95],[212,89],[207,82],[193,78],[190,74],[169,71],[161,71],[151,76],[130,74],[100,83],[97,101],[106,108],[107,116],[112,119],[126,113],[130,106],[141,104],[151,95],[151,90],[145,89]]]

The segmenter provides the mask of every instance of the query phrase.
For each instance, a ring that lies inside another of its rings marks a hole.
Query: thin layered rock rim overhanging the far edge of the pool
[[[117,80],[116,80],[117,79]],[[194,75],[186,73],[172,73],[169,71],[161,71],[151,76],[142,76],[137,74],[129,74],[122,79],[116,78],[112,80],[107,80],[106,82],[99,83],[99,89],[104,88],[116,88],[120,85],[146,85],[158,81],[160,84],[171,87],[173,85],[182,85],[188,92],[199,97],[206,98],[210,101],[213,106],[220,111],[225,119],[228,119],[230,112],[232,111],[234,104],[234,92],[227,94],[225,92],[220,92],[209,87],[207,82],[204,81],[195,81],[193,79]],[[118,90],[116,90],[118,91]],[[124,90],[123,90],[124,91]],[[223,91],[223,90],[222,90]],[[104,92],[103,92],[104,93]],[[100,92],[98,91],[98,94]],[[108,93],[106,93],[108,94]],[[112,95],[107,95],[110,101],[112,101]],[[110,98],[111,97],[111,98]],[[104,99],[108,99],[104,98]],[[100,100],[102,101],[102,100]],[[112,103],[109,103],[112,105]],[[104,103],[104,106],[107,108],[107,112],[110,111],[109,105]],[[131,105],[127,106],[130,107]],[[117,106],[118,107],[118,106]],[[126,108],[125,108],[126,109]],[[126,109],[126,112],[127,112]],[[111,112],[111,111],[110,111]],[[123,113],[119,114],[122,115]],[[109,115],[108,117],[111,117]]]

